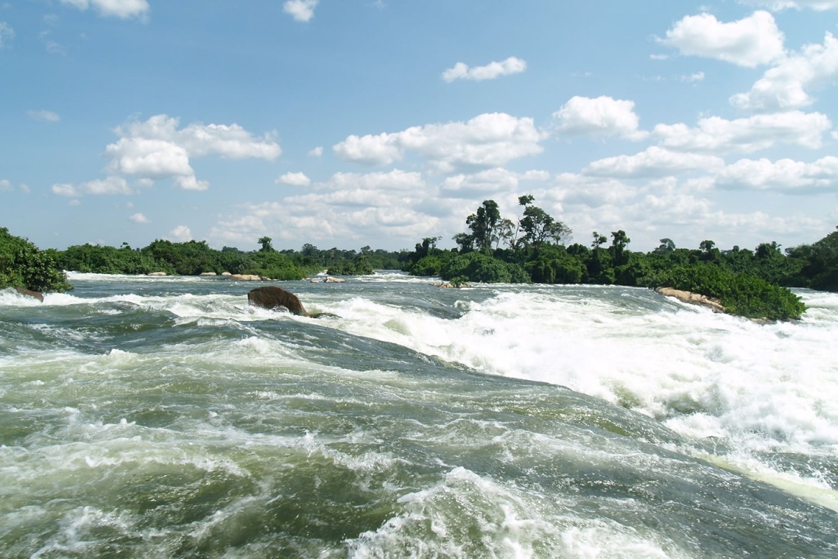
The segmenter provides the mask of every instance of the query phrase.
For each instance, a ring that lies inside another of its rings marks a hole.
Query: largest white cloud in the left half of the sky
[[[195,177],[191,158],[272,160],[282,153],[273,134],[256,138],[237,124],[190,124],[179,130],[178,125],[177,118],[156,115],[117,127],[120,139],[105,148],[108,172],[139,179],[171,178],[183,189],[205,190],[209,183]]]

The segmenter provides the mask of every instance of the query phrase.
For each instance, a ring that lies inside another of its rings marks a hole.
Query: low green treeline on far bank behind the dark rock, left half
[[[241,251],[225,246],[220,251],[206,241],[172,242],[157,240],[133,249],[127,243],[119,248],[99,245],[70,246],[57,251],[60,267],[75,272],[105,274],[148,274],[166,272],[197,276],[214,272],[221,274],[254,274],[276,280],[296,280],[321,270],[334,275],[370,274],[375,269],[399,269],[399,253],[373,251],[369,246],[344,251],[337,248],[320,250],[305,244],[300,251],[273,248],[270,237],[261,237],[257,251]]]

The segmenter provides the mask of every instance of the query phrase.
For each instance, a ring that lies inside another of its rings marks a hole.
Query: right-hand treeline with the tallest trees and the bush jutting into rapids
[[[758,318],[799,318],[803,303],[785,287],[838,291],[838,232],[812,245],[781,251],[776,242],[753,251],[722,251],[714,241],[678,248],[668,238],[649,252],[629,250],[624,230],[596,231],[590,244],[566,244],[572,231],[521,196],[520,217],[504,219],[494,200],[466,218],[468,231],[453,237],[458,248],[437,248],[426,237],[406,256],[403,269],[449,282],[588,283],[660,287],[721,299],[729,312]]]

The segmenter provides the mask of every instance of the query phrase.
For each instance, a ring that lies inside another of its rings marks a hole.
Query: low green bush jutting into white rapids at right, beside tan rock
[[[673,267],[646,280],[649,287],[675,287],[719,299],[728,313],[748,318],[800,318],[806,307],[786,287],[761,277],[727,272],[715,264]]]

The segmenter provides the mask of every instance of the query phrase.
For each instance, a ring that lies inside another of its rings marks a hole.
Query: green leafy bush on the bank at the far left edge
[[[0,287],[23,287],[38,292],[64,292],[73,288],[55,261],[54,253],[13,236],[0,227]]]

